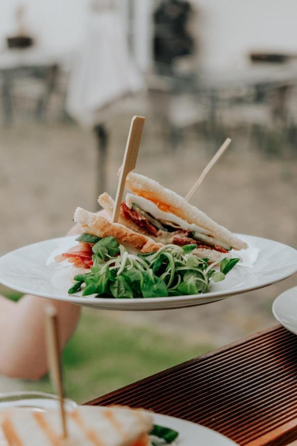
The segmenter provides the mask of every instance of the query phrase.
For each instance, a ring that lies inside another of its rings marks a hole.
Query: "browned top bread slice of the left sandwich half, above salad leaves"
[[[112,235],[118,242],[128,243],[143,253],[157,251],[164,246],[162,243],[156,243],[147,235],[139,234],[120,223],[110,223],[104,217],[82,208],[76,209],[74,221],[80,223],[83,231],[88,234],[97,235],[97,237]]]

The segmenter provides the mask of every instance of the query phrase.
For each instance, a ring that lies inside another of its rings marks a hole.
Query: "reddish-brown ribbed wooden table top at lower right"
[[[239,445],[287,445],[297,439],[297,336],[277,326],[87,404],[150,409]]]

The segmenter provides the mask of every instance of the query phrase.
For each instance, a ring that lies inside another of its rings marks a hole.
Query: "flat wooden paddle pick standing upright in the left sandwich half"
[[[123,193],[125,189],[126,177],[128,173],[131,172],[131,170],[133,170],[136,166],[136,160],[138,156],[143,128],[145,125],[145,120],[146,120],[145,117],[133,116],[131,121],[124,160],[121,167],[119,184],[115,197],[115,205],[113,208],[113,214],[112,214],[113,223],[117,223],[119,218]]]

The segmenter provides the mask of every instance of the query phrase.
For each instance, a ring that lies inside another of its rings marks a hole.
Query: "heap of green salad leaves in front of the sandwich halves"
[[[96,242],[90,272],[76,275],[68,290],[72,294],[83,289],[83,296],[133,299],[206,293],[211,282],[224,280],[240,260],[223,259],[209,265],[208,259],[192,254],[196,248],[193,244],[165,245],[153,253],[131,254],[112,236],[100,239],[82,234],[76,240]]]

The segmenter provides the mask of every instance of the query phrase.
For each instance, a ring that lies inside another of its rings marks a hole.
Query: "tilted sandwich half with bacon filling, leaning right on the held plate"
[[[210,261],[231,257],[230,251],[247,248],[247,243],[224,226],[189,204],[183,197],[158,182],[134,172],[126,179],[126,195],[119,223],[162,244],[196,244],[192,251]],[[112,215],[114,201],[107,194],[99,204]]]

